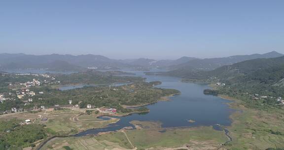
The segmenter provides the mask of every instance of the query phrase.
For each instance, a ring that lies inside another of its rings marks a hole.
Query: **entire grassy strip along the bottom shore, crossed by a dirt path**
[[[74,150],[111,150],[114,148],[116,150],[129,150],[133,149],[132,145],[138,150],[163,150],[185,146],[193,149],[198,148],[199,150],[214,150],[221,143],[228,140],[224,131],[214,130],[213,127],[161,128],[159,122],[132,121],[132,123],[140,125],[141,128],[121,130],[125,134],[117,131],[98,136],[54,139],[46,144],[44,148],[64,150],[62,149],[63,146],[68,143],[69,147]],[[83,141],[92,142],[87,145]],[[85,145],[85,147],[82,145]]]

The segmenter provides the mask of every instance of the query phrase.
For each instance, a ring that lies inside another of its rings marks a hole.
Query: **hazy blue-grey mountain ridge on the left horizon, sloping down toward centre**
[[[49,64],[49,65],[48,65]],[[52,65],[53,64],[53,65]],[[49,68],[50,70],[80,71],[87,67],[130,67],[101,55],[26,55],[26,54],[0,54],[0,68]],[[62,68],[60,68],[62,66]],[[67,68],[66,68],[67,67]]]

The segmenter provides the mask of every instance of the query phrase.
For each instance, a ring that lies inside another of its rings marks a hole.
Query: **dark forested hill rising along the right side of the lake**
[[[191,75],[184,76],[185,80],[225,83],[223,90],[271,96],[284,95],[284,56],[248,60]]]

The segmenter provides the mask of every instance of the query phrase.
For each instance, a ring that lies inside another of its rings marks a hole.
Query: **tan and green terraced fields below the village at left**
[[[1,120],[18,119],[25,121],[30,119],[34,124],[43,124],[49,131],[49,134],[53,135],[68,135],[75,134],[79,131],[105,127],[109,123],[118,121],[118,118],[110,118],[109,120],[98,119],[100,114],[81,114],[82,111],[72,111],[70,109],[63,110],[43,110],[41,112],[22,112],[22,113],[10,113],[7,115],[1,115]],[[47,118],[43,121],[43,118]]]

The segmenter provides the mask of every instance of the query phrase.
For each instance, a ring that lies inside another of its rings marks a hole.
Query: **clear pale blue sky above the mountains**
[[[0,53],[284,53],[284,0],[1,0]]]

